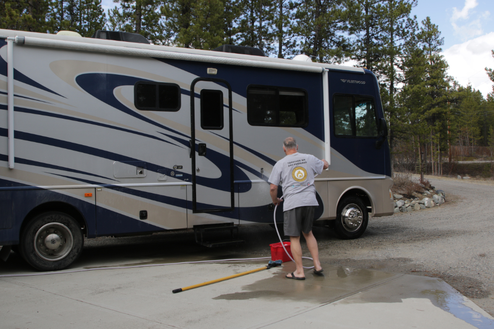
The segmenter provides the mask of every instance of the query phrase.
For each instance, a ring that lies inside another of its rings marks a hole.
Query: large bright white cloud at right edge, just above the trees
[[[463,86],[470,82],[486,96],[493,91],[493,82],[485,71],[486,67],[494,68],[493,49],[494,32],[455,44],[442,53],[450,65],[448,74]]]

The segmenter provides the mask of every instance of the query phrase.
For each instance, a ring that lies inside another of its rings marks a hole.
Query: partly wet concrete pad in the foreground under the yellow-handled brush
[[[161,262],[171,260],[160,259]],[[148,260],[140,264],[156,262]],[[324,328],[329,324],[334,328],[494,327],[492,317],[442,280],[327,264],[324,275],[306,271],[305,281],[284,278],[294,270],[294,264],[289,262],[281,268],[172,294],[176,288],[252,270],[266,263],[267,260],[182,264],[2,277],[0,327],[247,329],[300,328],[300,325]],[[114,261],[111,265],[115,265]],[[2,274],[5,273],[0,270]]]

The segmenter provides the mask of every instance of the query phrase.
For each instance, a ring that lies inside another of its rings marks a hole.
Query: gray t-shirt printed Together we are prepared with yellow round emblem
[[[310,154],[294,153],[278,161],[267,180],[283,188],[283,211],[296,207],[318,205],[314,177],[322,172],[324,163]]]

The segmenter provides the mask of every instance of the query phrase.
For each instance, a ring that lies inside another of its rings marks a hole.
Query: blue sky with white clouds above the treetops
[[[115,4],[102,0],[105,12]],[[438,25],[449,75],[463,86],[470,82],[484,97],[493,91],[485,68],[494,68],[494,0],[418,0],[412,14]]]

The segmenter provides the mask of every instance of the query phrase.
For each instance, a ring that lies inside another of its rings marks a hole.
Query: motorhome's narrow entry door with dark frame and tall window
[[[232,89],[221,79],[191,85],[193,212],[234,210]]]

